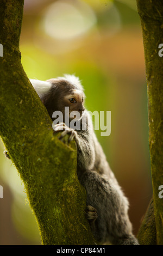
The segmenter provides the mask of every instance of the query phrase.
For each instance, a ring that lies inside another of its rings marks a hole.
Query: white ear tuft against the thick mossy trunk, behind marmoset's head
[[[40,98],[46,95],[52,87],[52,84],[49,82],[35,80],[35,79],[29,79],[29,80],[32,83],[34,89],[36,90],[36,93],[39,95]]]

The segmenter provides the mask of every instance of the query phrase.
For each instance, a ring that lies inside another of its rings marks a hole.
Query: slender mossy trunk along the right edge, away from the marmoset
[[[149,150],[153,184],[156,243],[163,245],[163,199],[158,196],[163,185],[163,3],[161,0],[137,0],[145,49],[148,92]]]

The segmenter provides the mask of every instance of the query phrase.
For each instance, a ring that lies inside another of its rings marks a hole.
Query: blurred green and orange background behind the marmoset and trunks
[[[20,40],[29,78],[75,74],[89,111],[111,111],[101,137],[110,167],[129,198],[134,234],[152,197],[145,60],[135,0],[25,0]],[[0,142],[0,245],[39,245],[20,176]]]

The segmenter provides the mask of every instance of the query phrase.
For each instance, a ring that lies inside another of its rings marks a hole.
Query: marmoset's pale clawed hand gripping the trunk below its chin
[[[63,131],[59,137],[59,139],[64,138],[67,134],[70,135],[68,138],[68,142],[71,142],[73,138],[77,138],[77,132],[72,128],[65,125],[65,123],[59,123],[53,126],[54,133]]]

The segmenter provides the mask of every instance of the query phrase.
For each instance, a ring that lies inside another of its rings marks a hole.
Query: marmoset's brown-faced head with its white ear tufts
[[[80,119],[85,110],[84,108],[84,92],[79,78],[73,75],[65,75],[65,77],[52,78],[50,80],[39,81],[30,80],[37,94],[47,108],[52,118],[53,112],[61,111],[63,118]],[[65,112],[68,107],[68,112]]]

